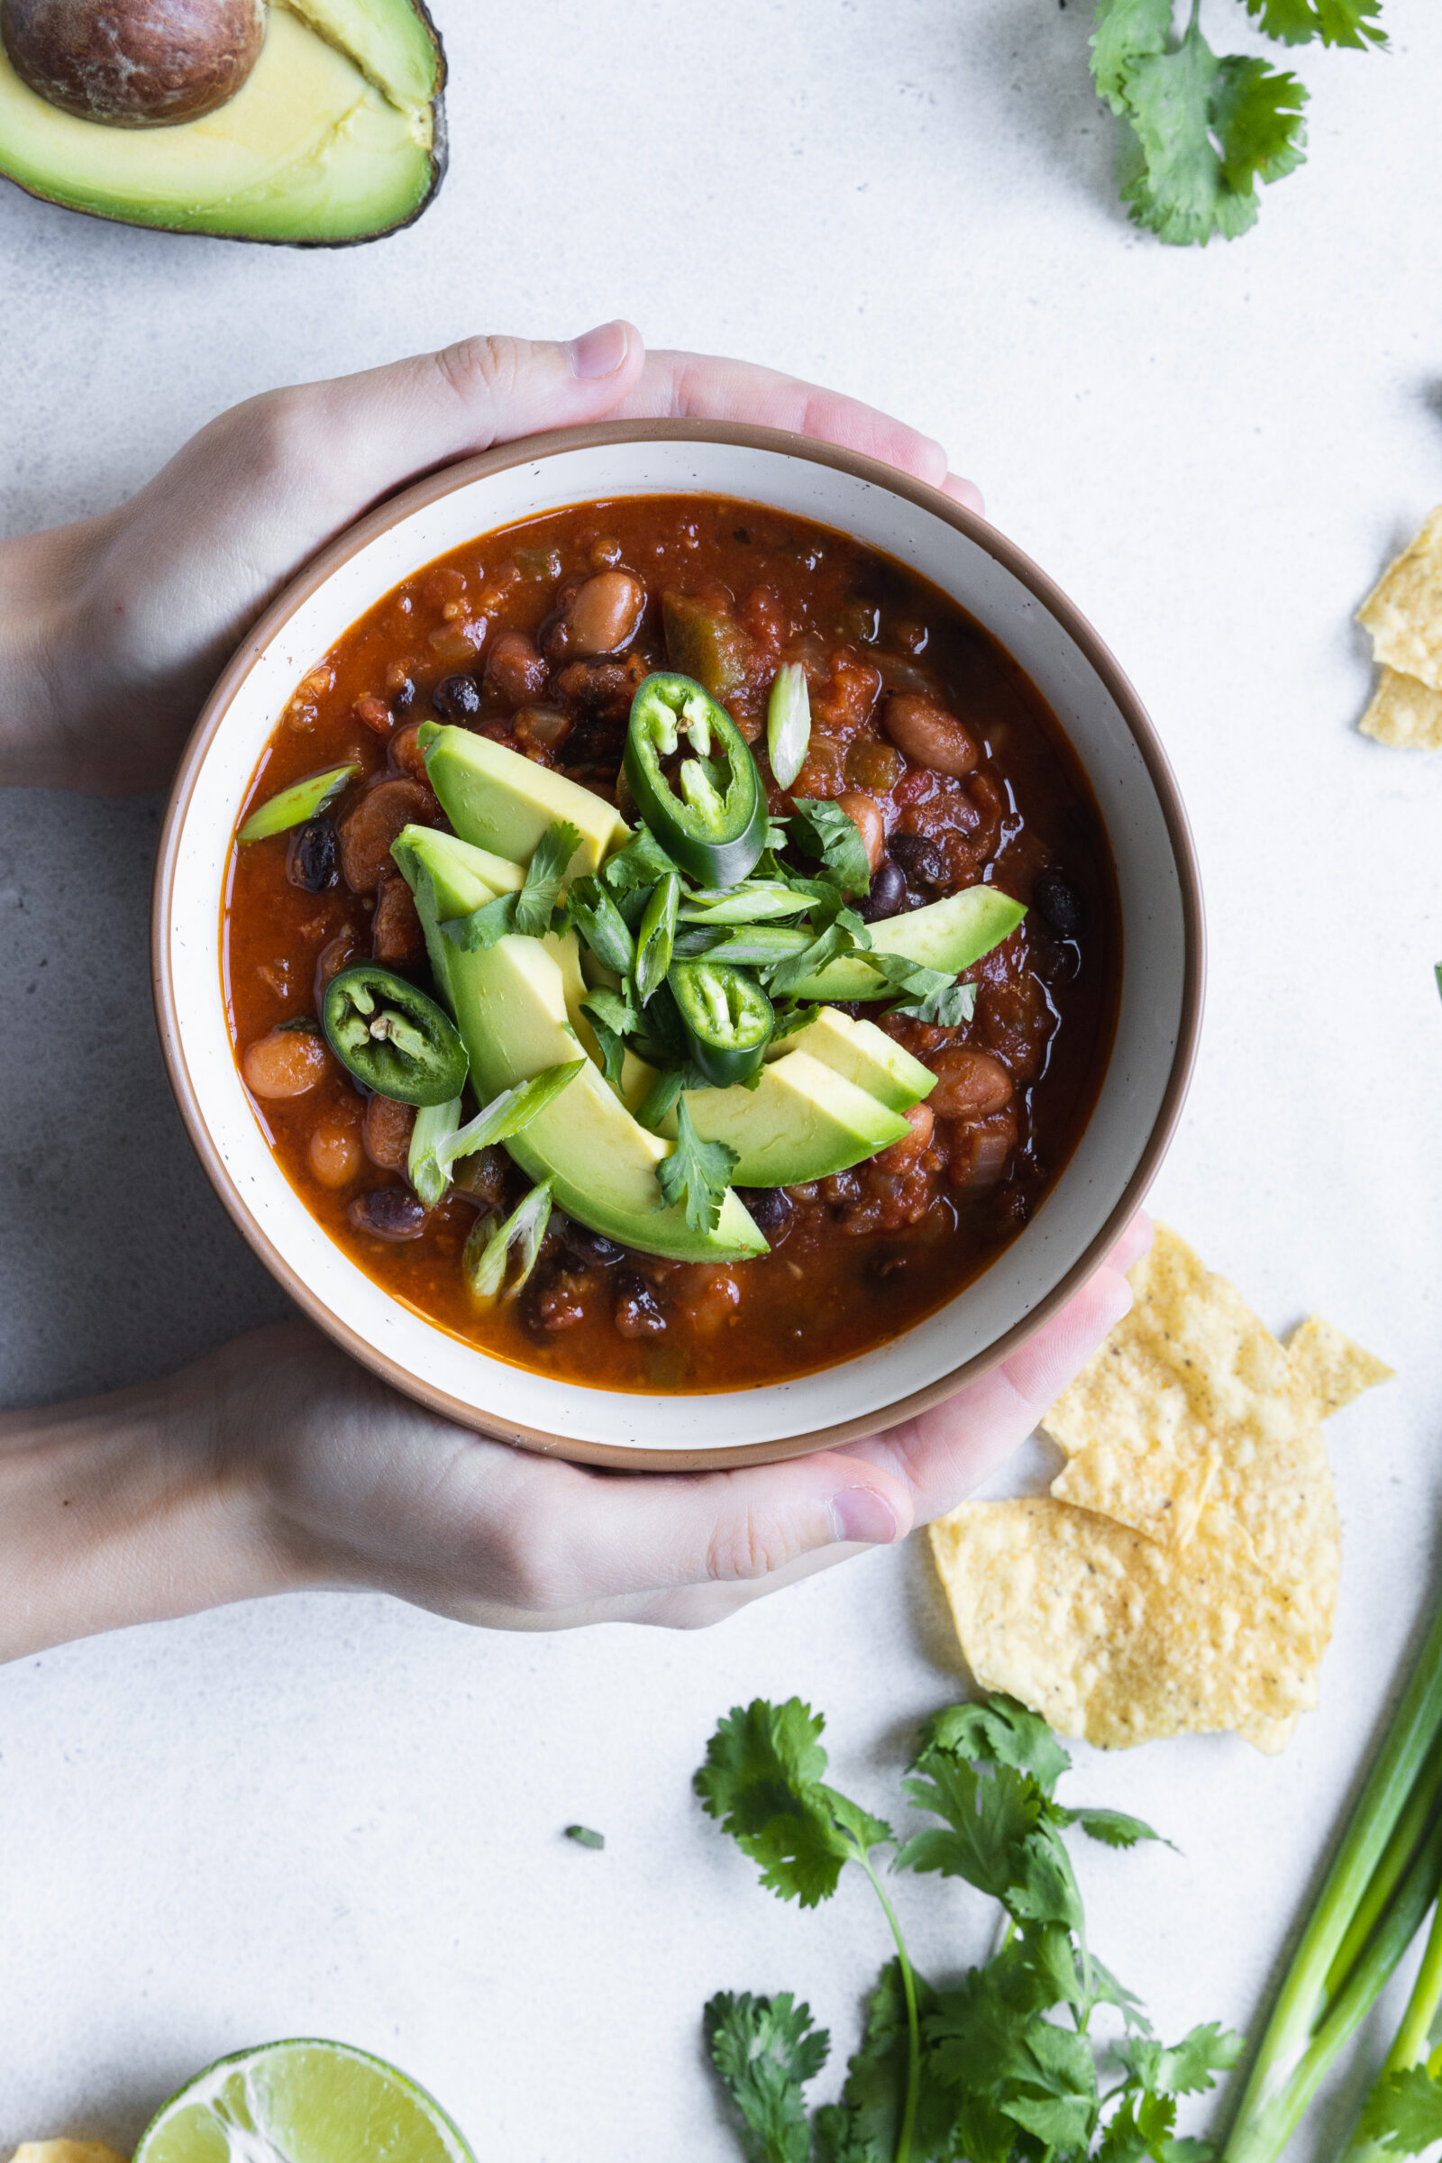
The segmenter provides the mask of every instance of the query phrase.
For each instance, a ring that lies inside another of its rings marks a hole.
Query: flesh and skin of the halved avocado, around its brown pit
[[[441,43],[419,0],[272,0],[240,91],[179,128],[45,104],[0,48],[0,175],[125,225],[337,247],[422,214],[445,171]]]

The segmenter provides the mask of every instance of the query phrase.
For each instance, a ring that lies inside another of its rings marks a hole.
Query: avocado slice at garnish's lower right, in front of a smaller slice
[[[927,1075],[927,1082],[932,1075]],[[685,1107],[703,1142],[737,1153],[737,1187],[796,1187],[830,1179],[908,1133],[902,1112],[824,1066],[809,1051],[787,1051],[761,1073],[757,1088],[698,1088]],[[677,1131],[677,1114],[662,1123]]]

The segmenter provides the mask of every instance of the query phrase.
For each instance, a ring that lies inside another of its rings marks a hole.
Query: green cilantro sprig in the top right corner
[[[1284,45],[1386,45],[1381,0],[1245,0],[1260,30]],[[1137,225],[1174,247],[1234,240],[1256,225],[1256,184],[1306,160],[1308,93],[1256,56],[1217,54],[1202,35],[1200,0],[1174,32],[1172,0],[1098,0],[1092,80],[1131,128],[1122,201]]]

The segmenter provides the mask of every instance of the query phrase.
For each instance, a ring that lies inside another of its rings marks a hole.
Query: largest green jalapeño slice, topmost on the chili
[[[681,744],[677,785],[662,770]],[[765,848],[765,787],[731,714],[692,677],[649,675],[631,699],[625,772],[646,826],[703,887],[733,887]]]

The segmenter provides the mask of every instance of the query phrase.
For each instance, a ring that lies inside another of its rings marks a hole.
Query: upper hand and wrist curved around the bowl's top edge
[[[646,355],[627,322],[266,392],[119,510],[0,545],[0,781],[162,787],[246,627],[363,510],[493,443],[642,415],[793,428],[982,504],[914,428],[746,361]]]

